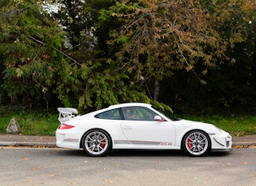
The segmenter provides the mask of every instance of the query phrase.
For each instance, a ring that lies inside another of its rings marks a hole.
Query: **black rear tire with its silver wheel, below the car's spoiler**
[[[82,147],[89,156],[106,156],[112,148],[111,137],[102,129],[92,129],[82,137]]]

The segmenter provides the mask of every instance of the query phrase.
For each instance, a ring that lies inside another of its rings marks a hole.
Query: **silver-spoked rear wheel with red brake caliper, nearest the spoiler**
[[[101,156],[109,150],[109,137],[100,130],[85,135],[84,149],[92,156]]]

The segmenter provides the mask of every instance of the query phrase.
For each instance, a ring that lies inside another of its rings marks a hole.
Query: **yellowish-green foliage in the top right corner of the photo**
[[[256,2],[251,0],[223,0],[210,8],[212,23],[219,34],[228,39],[231,48],[235,43],[255,36]]]

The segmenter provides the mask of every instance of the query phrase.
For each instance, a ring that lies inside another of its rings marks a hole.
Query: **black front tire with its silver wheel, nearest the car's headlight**
[[[186,133],[182,140],[182,148],[189,156],[203,156],[210,151],[210,137],[201,130]]]

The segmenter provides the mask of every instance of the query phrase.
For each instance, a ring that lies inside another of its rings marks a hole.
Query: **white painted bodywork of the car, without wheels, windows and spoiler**
[[[99,119],[99,113],[124,107],[150,108],[164,121],[159,120],[109,120]],[[61,120],[60,120],[61,121]],[[212,151],[229,151],[232,149],[232,137],[215,125],[190,120],[171,120],[154,110],[150,104],[117,104],[84,116],[69,116],[65,125],[72,129],[56,130],[56,145],[69,149],[80,149],[83,135],[90,129],[102,129],[111,136],[112,149],[154,149],[181,150],[182,139],[192,130],[202,130],[210,137]]]

